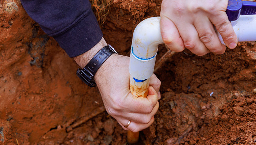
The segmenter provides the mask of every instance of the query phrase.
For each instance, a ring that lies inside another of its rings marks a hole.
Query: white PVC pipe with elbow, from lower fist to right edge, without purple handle
[[[256,15],[241,15],[231,24],[239,42],[256,41]],[[217,35],[224,44],[219,32]],[[137,97],[147,96],[159,44],[163,44],[160,17],[151,17],[140,22],[133,32],[129,65],[130,91]]]

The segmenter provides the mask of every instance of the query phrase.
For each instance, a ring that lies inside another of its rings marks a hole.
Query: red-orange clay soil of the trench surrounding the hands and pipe
[[[129,55],[135,26],[159,16],[161,1],[114,0],[105,39]],[[0,1],[0,144],[126,144],[97,88],[77,78],[73,59],[42,32],[18,0]],[[159,47],[158,59],[167,51]],[[156,75],[162,98],[140,144],[256,144],[256,43],[222,55],[174,54]]]

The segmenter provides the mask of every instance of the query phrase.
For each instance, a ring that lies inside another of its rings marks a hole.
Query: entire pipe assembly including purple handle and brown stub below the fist
[[[239,42],[256,41],[256,2],[229,0],[226,13]],[[224,44],[220,33],[216,33]],[[133,32],[129,64],[130,91],[136,97],[148,96],[159,44],[163,44],[160,17],[140,22]],[[139,132],[128,131],[129,143],[136,143],[138,139]]]

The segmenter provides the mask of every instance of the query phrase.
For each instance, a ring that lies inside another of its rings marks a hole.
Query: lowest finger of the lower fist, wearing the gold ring
[[[136,123],[136,122],[131,121],[129,126],[127,128],[125,128],[124,126],[126,126],[128,124],[128,122],[129,121],[126,119],[118,121],[118,123],[122,126],[122,128],[124,130],[131,130],[132,132],[138,132],[138,131],[148,128],[154,122],[154,117],[152,117],[147,124]]]

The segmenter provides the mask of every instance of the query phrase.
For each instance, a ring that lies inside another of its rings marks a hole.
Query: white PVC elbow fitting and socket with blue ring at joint
[[[151,77],[154,72],[158,45],[162,44],[160,17],[140,22],[133,32],[129,72],[138,80]]]

